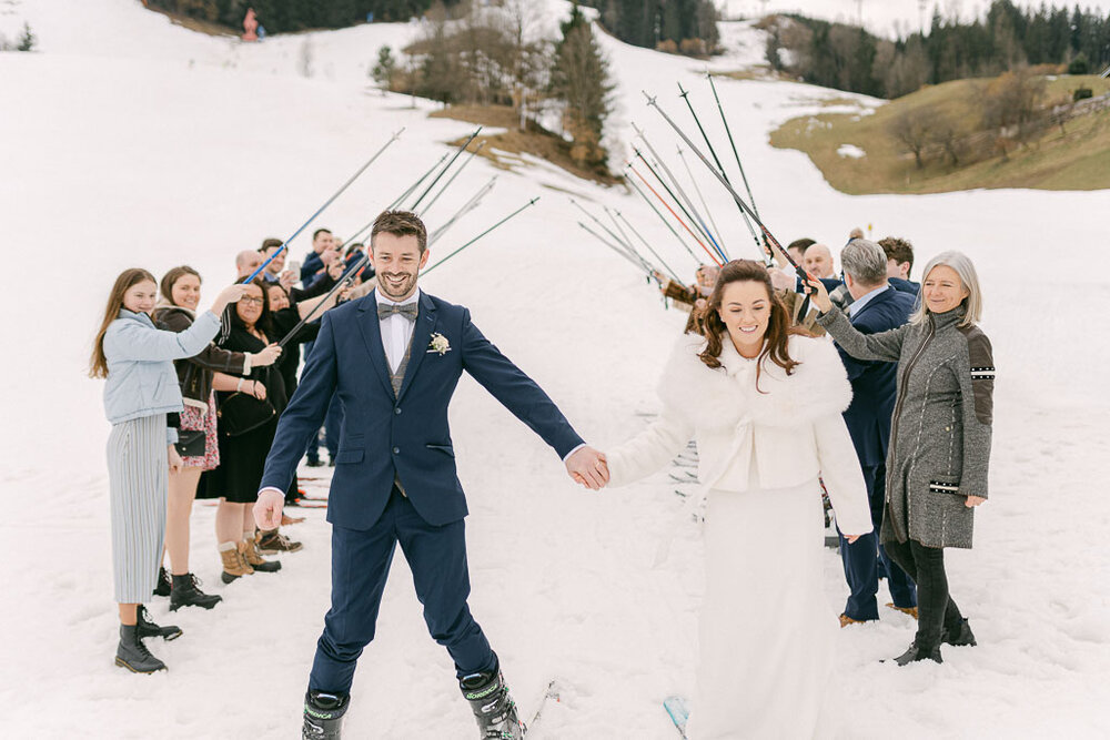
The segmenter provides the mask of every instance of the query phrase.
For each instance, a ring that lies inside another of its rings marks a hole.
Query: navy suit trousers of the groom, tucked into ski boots
[[[332,608],[316,643],[310,689],[350,691],[359,656],[374,639],[398,543],[412,568],[416,597],[424,605],[424,621],[435,641],[447,648],[457,676],[492,670],[496,665],[490,642],[466,606],[471,581],[463,520],[434,527],[394,488],[382,518],[370,530],[332,527]]]

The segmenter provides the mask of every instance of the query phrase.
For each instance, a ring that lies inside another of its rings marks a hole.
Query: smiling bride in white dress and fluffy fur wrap
[[[848,541],[871,530],[840,416],[851,387],[830,342],[790,330],[756,262],[722,268],[704,334],[683,336],[667,361],[657,420],[606,453],[610,485],[650,475],[696,437],[708,494],[689,737],[823,737],[838,622],[821,585],[818,474]]]

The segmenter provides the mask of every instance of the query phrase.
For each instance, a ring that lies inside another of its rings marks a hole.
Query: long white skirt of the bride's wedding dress
[[[709,491],[690,738],[831,737],[838,621],[821,585],[824,530],[816,478]]]

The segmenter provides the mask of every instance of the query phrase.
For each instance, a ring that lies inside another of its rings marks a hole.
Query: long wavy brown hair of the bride
[[[733,260],[725,263],[717,275],[717,283],[713,286],[713,293],[706,301],[706,306],[698,316],[697,326],[699,334],[705,336],[705,351],[698,355],[708,367],[714,369],[720,367],[720,349],[728,334],[725,322],[720,320],[720,302],[725,293],[725,286],[730,283],[753,282],[759,283],[767,288],[767,300],[770,303],[770,321],[767,323],[767,333],[764,335],[763,352],[759,353],[756,365],[756,388],[759,387],[759,372],[763,369],[764,357],[770,356],[773,363],[786,371],[787,375],[794,373],[798,362],[790,357],[789,338],[793,334],[805,335],[803,330],[790,326],[790,318],[787,316],[786,306],[777,295],[775,287],[770,283],[770,275],[767,268],[753,260]]]

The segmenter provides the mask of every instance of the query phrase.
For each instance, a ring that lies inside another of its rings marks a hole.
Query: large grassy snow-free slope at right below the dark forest
[[[870,115],[821,113],[791,119],[770,135],[773,146],[796,149],[809,159],[839,191],[870,193],[942,193],[977,187],[1035,187],[1041,190],[1101,190],[1110,187],[1110,110],[1069,121],[1061,131],[1048,129],[1037,142],[1010,153],[953,168],[935,159],[917,169],[914,156],[889,133],[902,113],[936,110],[978,128],[978,91],[987,80],[955,80],[922,88],[892,100]],[[1110,80],[1094,75],[1059,77],[1048,83],[1047,100],[1070,100],[1071,91],[1091,88],[1094,95],[1110,92]],[[852,144],[867,155],[841,156],[837,150]]]

